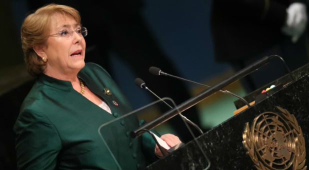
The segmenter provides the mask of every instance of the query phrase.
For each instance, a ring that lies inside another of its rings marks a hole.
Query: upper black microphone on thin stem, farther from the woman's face
[[[188,82],[192,82],[194,84],[198,84],[198,85],[202,85],[202,86],[205,86],[205,87],[210,87],[209,85],[205,85],[205,84],[202,84],[202,83],[199,83],[199,82],[196,82],[196,81],[192,81],[192,80],[189,80],[189,79],[185,79],[185,78],[181,78],[181,77],[178,77],[178,76],[175,76],[175,75],[171,75],[171,74],[168,74],[166,72],[163,72],[160,68],[158,67],[155,67],[155,66],[150,66],[149,67],[149,72],[153,75],[166,75],[166,76],[171,76],[173,78],[176,78],[176,79],[180,79],[180,80],[184,80],[184,81],[188,81]],[[240,97],[239,95],[236,95],[226,89],[224,90],[219,90],[220,92],[224,93],[224,94],[229,94],[229,95],[232,95],[232,96],[235,96],[237,98],[239,98],[241,101],[243,101],[248,107],[250,107],[250,104],[242,97]]]

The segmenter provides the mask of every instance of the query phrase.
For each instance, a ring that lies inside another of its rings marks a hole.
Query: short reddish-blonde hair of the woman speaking
[[[46,66],[46,63],[33,50],[33,46],[46,42],[50,16],[54,13],[70,15],[80,24],[80,15],[76,9],[54,3],[36,9],[24,19],[20,29],[21,46],[27,71],[33,76],[43,73]]]

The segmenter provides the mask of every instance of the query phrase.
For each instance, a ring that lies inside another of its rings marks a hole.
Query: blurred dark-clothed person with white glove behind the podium
[[[213,0],[211,31],[215,59],[235,71],[277,54],[294,70],[309,59],[305,0]],[[240,79],[249,93],[287,73],[278,58]]]

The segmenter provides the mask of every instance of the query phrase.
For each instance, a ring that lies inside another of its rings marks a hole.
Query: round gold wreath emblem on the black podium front
[[[266,111],[256,116],[251,129],[246,122],[242,144],[257,169],[306,169],[305,142],[293,114]]]

